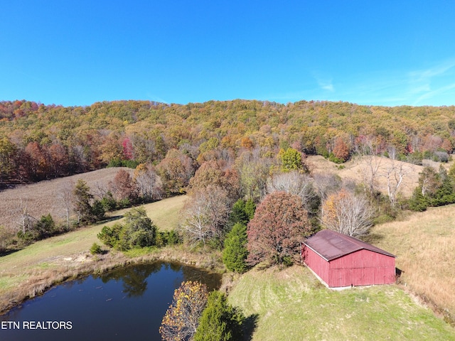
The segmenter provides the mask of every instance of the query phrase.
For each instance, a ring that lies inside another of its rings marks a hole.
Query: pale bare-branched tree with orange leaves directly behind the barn
[[[374,210],[365,197],[343,189],[323,202],[321,223],[328,229],[360,237],[368,233],[373,216]]]

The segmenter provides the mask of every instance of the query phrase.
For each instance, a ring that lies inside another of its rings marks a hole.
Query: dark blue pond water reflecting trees
[[[0,316],[0,340],[161,340],[159,326],[182,281],[219,288],[220,275],[191,266],[127,266],[55,286]]]

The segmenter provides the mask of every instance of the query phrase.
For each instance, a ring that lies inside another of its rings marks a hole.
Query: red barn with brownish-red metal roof
[[[329,288],[395,283],[393,254],[330,229],[307,239],[302,256]]]

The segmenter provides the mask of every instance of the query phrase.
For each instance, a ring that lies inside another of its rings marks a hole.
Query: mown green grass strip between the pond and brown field
[[[172,229],[178,223],[178,212],[185,196],[171,197],[144,205],[147,214],[159,229]],[[114,215],[122,215],[115,212]],[[114,224],[121,220],[107,222]],[[119,252],[110,252],[104,261],[90,256],[94,242],[101,244],[97,234],[105,224],[78,229],[74,232],[44,239],[0,257],[0,311],[16,298],[33,296],[52,283],[77,274],[103,269],[129,261]],[[182,253],[183,255],[183,253]],[[168,255],[172,257],[172,255]],[[185,259],[183,259],[184,261]],[[103,262],[104,261],[104,262]]]

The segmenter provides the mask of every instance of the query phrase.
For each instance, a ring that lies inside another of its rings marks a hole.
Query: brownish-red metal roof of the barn
[[[326,261],[346,256],[346,254],[352,254],[353,252],[361,249],[395,257],[393,254],[390,254],[379,247],[373,247],[373,245],[362,242],[360,239],[349,237],[346,234],[341,234],[339,232],[332,231],[331,229],[323,229],[322,231],[319,231],[314,234],[313,237],[306,239],[304,244],[322,256],[323,259],[326,259]]]

